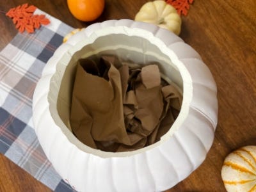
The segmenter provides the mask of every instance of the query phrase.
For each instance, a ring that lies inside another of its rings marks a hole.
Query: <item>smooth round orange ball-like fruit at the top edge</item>
[[[68,8],[76,19],[92,21],[103,12],[105,0],[67,0]]]

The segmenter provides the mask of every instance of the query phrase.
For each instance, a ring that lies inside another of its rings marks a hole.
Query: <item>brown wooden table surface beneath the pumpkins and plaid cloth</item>
[[[104,13],[95,22],[134,19],[146,0],[106,0]],[[0,49],[17,30],[4,13],[29,3],[74,28],[80,22],[68,12],[65,0],[1,0]],[[202,165],[168,191],[225,191],[221,166],[239,147],[256,145],[256,1],[195,0],[182,17],[180,37],[191,45],[210,68],[218,86],[219,117],[214,143]],[[19,182],[17,182],[19,180]],[[0,156],[0,191],[50,191],[6,157]]]

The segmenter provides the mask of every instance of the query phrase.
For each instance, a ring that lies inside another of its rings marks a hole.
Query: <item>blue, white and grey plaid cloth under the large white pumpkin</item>
[[[52,168],[32,129],[36,83],[63,36],[73,30],[50,15],[47,18],[51,24],[33,34],[17,34],[0,52],[0,152],[52,190],[73,191]]]

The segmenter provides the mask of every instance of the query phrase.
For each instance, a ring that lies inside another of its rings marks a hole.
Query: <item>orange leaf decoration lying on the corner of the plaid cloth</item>
[[[45,17],[45,15],[33,15],[36,7],[33,5],[28,6],[28,3],[19,5],[15,8],[11,8],[6,16],[13,20],[13,24],[20,33],[25,30],[28,33],[33,33],[35,29],[39,29],[41,25],[47,25],[50,20]]]

